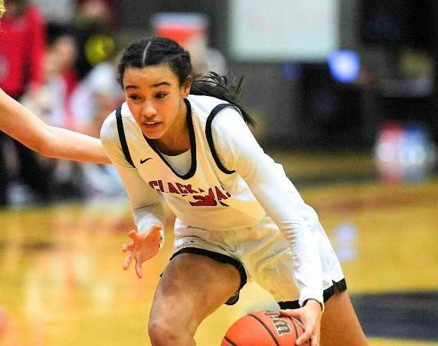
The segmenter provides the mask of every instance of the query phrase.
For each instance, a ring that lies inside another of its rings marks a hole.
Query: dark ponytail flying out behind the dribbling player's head
[[[239,102],[242,93],[242,84],[243,77],[234,79],[230,83],[226,76],[210,72],[208,75],[193,80],[190,93],[192,95],[216,97],[217,99],[223,99],[230,104],[236,105],[240,113],[242,113],[245,122],[254,127],[256,122]]]

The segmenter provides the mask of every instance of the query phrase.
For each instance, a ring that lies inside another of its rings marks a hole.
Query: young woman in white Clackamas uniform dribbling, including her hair
[[[152,345],[195,345],[201,321],[234,304],[248,278],[303,321],[297,345],[320,345],[320,336],[324,346],[367,345],[318,216],[249,131],[240,83],[214,74],[193,81],[189,53],[158,37],[129,46],[119,73],[126,102],[101,140],[137,227],[122,247],[124,269],[135,260],[141,278],[162,245],[159,193],[177,216],[149,318]]]

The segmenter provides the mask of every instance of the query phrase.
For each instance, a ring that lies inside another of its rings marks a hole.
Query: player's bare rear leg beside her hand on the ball
[[[368,346],[347,291],[336,293],[325,302],[321,319],[321,346]]]

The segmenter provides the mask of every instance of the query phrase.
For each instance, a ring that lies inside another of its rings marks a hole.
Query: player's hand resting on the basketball
[[[296,339],[296,345],[303,345],[310,340],[310,346],[319,346],[321,316],[323,311],[317,300],[309,299],[300,309],[280,310],[283,316],[293,316],[301,320],[304,325],[304,333]]]

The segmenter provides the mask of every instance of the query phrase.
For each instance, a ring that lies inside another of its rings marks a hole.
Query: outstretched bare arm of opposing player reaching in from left
[[[111,163],[99,139],[66,128],[48,126],[1,89],[0,130],[44,156]]]

